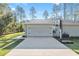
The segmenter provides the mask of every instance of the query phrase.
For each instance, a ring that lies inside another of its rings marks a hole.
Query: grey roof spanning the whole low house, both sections
[[[73,22],[71,20],[63,20],[62,21],[63,25],[79,25],[79,22]],[[42,19],[37,19],[37,20],[27,20],[25,21],[24,24],[59,24],[58,20],[42,20]]]

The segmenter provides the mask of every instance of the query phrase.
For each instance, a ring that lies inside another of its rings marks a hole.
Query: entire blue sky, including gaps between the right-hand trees
[[[62,18],[64,18],[64,3],[60,3],[58,6],[61,9],[59,11],[60,16],[62,16]],[[54,6],[56,5],[55,3],[9,3],[9,6],[11,8],[16,8],[16,6],[19,5],[21,7],[23,7],[23,9],[25,10],[25,14],[26,14],[26,19],[31,19],[30,17],[30,8],[31,7],[35,7],[36,9],[36,17],[37,19],[43,19],[43,12],[44,10],[47,10],[49,13],[49,18],[52,16],[52,10],[54,8]],[[73,20],[73,12],[71,10],[71,6],[74,8],[74,10],[79,10],[79,4],[77,3],[66,3],[66,13],[65,13],[65,18],[67,20]],[[77,8],[76,8],[77,7]],[[53,13],[54,14],[54,13]],[[57,16],[56,16],[57,17]],[[26,20],[25,19],[25,20]]]

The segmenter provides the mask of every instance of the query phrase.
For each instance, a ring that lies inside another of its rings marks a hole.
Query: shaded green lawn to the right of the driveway
[[[70,38],[74,42],[74,44],[66,44],[69,48],[79,54],[79,38]]]

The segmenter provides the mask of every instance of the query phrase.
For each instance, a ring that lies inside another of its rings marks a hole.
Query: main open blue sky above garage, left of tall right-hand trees
[[[31,7],[35,7],[37,12],[36,13],[37,18],[43,18],[44,10],[48,11],[50,17],[53,8],[53,4],[51,3],[10,3],[9,4],[11,8],[16,8],[17,5],[24,8],[27,18],[30,18],[29,10]]]

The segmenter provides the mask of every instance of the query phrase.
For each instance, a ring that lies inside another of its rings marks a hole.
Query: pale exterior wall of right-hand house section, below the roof
[[[70,36],[79,37],[79,26],[78,25],[63,26],[63,31],[68,33]]]

